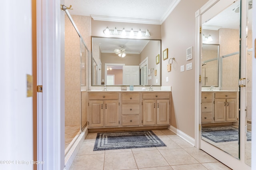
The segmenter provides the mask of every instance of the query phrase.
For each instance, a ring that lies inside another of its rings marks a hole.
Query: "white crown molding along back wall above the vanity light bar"
[[[160,25],[159,20],[146,20],[146,19],[139,19],[139,18],[123,18],[123,17],[98,16],[98,15],[91,15],[91,17],[94,20],[100,20],[100,21],[130,22],[130,23],[136,23],[136,24]]]

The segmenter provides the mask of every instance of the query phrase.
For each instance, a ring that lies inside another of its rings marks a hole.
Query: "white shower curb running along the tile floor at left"
[[[69,170],[89,130],[86,126],[65,156],[65,170]]]

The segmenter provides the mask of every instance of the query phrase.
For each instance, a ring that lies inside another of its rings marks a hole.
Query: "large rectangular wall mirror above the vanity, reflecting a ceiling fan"
[[[161,40],[92,37],[92,86],[161,85]]]

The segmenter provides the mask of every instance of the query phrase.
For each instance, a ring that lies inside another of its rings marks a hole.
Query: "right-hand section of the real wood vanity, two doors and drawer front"
[[[143,125],[170,125],[170,93],[143,93]]]

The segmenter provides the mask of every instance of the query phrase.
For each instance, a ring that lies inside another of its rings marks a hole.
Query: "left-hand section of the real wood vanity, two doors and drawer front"
[[[89,93],[88,105],[90,128],[119,126],[118,93]]]

